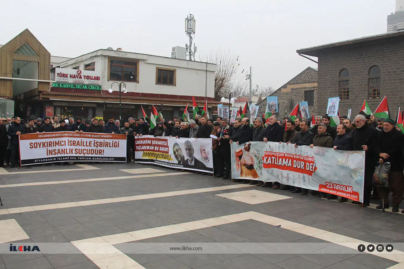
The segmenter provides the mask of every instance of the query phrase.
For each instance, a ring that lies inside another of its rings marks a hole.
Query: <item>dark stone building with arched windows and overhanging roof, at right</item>
[[[404,30],[297,50],[318,57],[318,113],[329,97],[339,97],[339,111],[357,115],[364,99],[375,111],[387,96],[391,117],[404,107]],[[311,112],[310,112],[311,113]]]

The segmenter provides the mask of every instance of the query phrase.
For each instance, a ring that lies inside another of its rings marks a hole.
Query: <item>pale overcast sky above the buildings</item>
[[[188,42],[189,11],[198,52],[227,48],[240,56],[240,71],[252,66],[253,85],[279,88],[317,67],[297,49],[384,33],[395,0],[3,1],[0,44],[28,28],[54,56],[121,47],[170,57]]]

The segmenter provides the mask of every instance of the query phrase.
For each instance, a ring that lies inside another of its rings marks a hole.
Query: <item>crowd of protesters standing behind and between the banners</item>
[[[200,115],[196,115],[195,119],[189,121],[184,121],[183,118],[166,121],[161,117],[159,120],[157,126],[151,128],[148,118],[129,118],[123,124],[114,118],[109,118],[107,122],[97,118],[85,122],[80,118],[59,120],[57,116],[54,116],[53,118],[46,117],[44,120],[41,118],[29,119],[26,124],[21,122],[19,117],[2,118],[0,124],[0,136],[2,137],[0,158],[4,160],[2,167],[14,167],[19,162],[18,136],[20,134],[63,131],[124,134],[127,136],[127,162],[134,160],[135,137],[154,135],[156,137],[198,139],[210,138],[210,135],[214,135],[217,137],[217,139],[213,139],[212,143],[213,176],[215,178],[231,179],[230,144],[233,142],[238,145],[244,144],[244,148],[247,149],[251,141],[271,141],[292,143],[295,147],[316,146],[335,150],[360,150],[365,151],[363,203],[356,201],[352,203],[366,207],[370,205],[370,199],[380,199],[385,204],[380,204],[377,209],[382,209],[383,206],[389,208],[388,195],[389,192],[392,192],[392,211],[398,212],[398,206],[403,199],[404,135],[391,118],[375,120],[374,116],[358,115],[351,122],[346,116],[342,116],[336,127],[330,126],[328,115],[316,116],[315,124],[312,127],[304,118],[296,118],[295,121],[290,118],[278,120],[275,115],[272,115],[266,122],[262,118],[255,118],[254,122],[250,122],[249,118],[236,118],[234,122],[229,123],[227,118],[223,119],[220,116],[213,120]],[[384,162],[391,164],[388,189],[372,186],[375,166],[377,163]],[[234,179],[234,181],[257,187],[288,190],[301,195],[318,195],[329,200],[337,199],[336,195],[288,185],[281,186],[278,182],[246,179]],[[347,202],[347,198],[341,198],[339,202]]]

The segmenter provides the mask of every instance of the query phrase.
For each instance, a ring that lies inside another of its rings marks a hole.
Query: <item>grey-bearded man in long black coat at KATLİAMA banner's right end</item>
[[[375,172],[377,158],[377,133],[376,128],[369,126],[363,115],[355,117],[355,130],[352,131],[352,150],[365,151],[365,176],[363,188],[362,207],[369,206],[372,193],[372,178]],[[361,202],[352,201],[353,204]]]

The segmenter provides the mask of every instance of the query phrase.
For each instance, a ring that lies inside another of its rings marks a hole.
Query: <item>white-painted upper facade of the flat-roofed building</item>
[[[113,78],[111,61],[137,65],[134,81]],[[124,81],[128,92],[215,97],[215,64],[104,49],[59,63],[62,68],[81,70],[91,64],[95,64],[95,71],[101,72],[103,90],[108,90],[112,82]],[[159,84],[158,70],[174,71],[174,85]],[[116,85],[112,88],[118,89]]]

